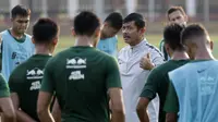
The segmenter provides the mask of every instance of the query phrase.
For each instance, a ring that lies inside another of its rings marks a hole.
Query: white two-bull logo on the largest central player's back
[[[86,59],[82,58],[73,58],[66,59],[66,69],[85,69],[86,68]]]

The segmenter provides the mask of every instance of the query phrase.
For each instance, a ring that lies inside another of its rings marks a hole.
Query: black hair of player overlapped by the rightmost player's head
[[[179,24],[170,24],[165,27],[164,41],[168,44],[172,50],[184,50],[180,40],[180,35],[183,29],[184,26]]]

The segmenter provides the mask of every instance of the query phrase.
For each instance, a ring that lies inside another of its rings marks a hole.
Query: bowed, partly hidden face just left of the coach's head
[[[105,37],[105,38],[110,38],[110,37],[113,37],[116,36],[116,34],[118,33],[119,30],[111,27],[109,24],[105,24],[102,29],[101,29],[101,35]]]

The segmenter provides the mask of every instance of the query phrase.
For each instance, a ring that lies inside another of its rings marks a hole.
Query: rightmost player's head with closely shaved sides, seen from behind
[[[210,41],[208,32],[203,25],[189,25],[181,34],[181,40],[185,45],[185,50],[191,59],[211,56],[213,41]]]

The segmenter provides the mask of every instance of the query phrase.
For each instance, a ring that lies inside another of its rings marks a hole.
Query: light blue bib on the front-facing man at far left
[[[24,34],[23,38],[16,39],[7,29],[0,35],[2,38],[2,75],[8,82],[12,71],[34,54],[35,46],[32,42],[32,37],[27,34]]]

